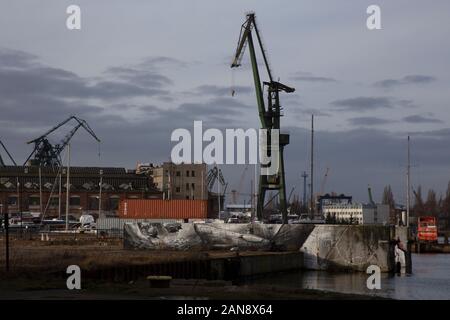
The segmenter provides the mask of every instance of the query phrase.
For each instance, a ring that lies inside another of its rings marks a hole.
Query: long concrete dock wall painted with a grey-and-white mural
[[[370,265],[377,265],[382,272],[395,267],[395,240],[400,239],[407,248],[408,229],[381,225],[313,225],[313,224],[182,224],[181,230],[170,236],[170,241],[150,238],[140,232],[138,226],[126,226],[124,245],[142,249],[211,250],[237,249],[260,251],[300,252],[290,260],[252,258],[242,260],[233,270],[254,274],[255,270],[277,272],[305,268],[312,270],[351,270],[365,272]],[[128,229],[128,230],[127,230]],[[128,240],[127,240],[128,239]],[[153,239],[153,240],[151,240]],[[409,253],[407,253],[409,254]],[[269,260],[265,260],[269,259]],[[407,260],[411,269],[411,260]],[[230,262],[231,263],[231,262]],[[242,267],[241,267],[242,266]],[[217,272],[220,273],[220,268]],[[230,269],[230,268],[228,268]]]

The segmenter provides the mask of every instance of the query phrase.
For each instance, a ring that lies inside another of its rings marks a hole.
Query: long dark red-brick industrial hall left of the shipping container
[[[66,168],[37,166],[0,167],[0,203],[10,214],[45,212],[46,217],[65,214]],[[152,179],[124,168],[71,167],[69,171],[69,213],[97,215],[101,198],[101,214],[116,215],[124,199],[161,199]],[[61,181],[61,184],[60,184]],[[102,181],[100,188],[100,181]],[[60,193],[61,185],[61,193]],[[42,194],[42,202],[40,195]],[[61,201],[60,201],[61,198]]]

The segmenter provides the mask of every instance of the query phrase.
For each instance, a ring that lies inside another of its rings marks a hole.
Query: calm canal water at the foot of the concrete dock
[[[251,280],[248,284],[265,284],[295,288],[309,288],[342,293],[368,294],[393,299],[449,300],[450,254],[413,254],[411,275],[382,274],[381,289],[367,289],[369,275],[329,273],[302,270],[271,278]],[[274,284],[274,278],[276,284]]]

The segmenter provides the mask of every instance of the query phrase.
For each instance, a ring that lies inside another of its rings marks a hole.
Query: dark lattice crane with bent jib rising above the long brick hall
[[[75,120],[76,125],[72,128],[72,130],[69,131],[69,133],[61,140],[59,144],[52,145],[47,137],[52,132],[56,131],[66,123],[68,123],[71,120]],[[75,116],[71,116],[64,120],[63,122],[59,123],[43,135],[41,135],[39,138],[36,138],[34,140],[28,141],[28,144],[34,143],[34,149],[33,152],[28,156],[27,160],[25,160],[24,165],[27,164],[28,160],[31,159],[31,157],[34,155],[34,159],[32,160],[32,165],[37,166],[43,166],[43,167],[58,167],[61,166],[61,153],[64,150],[64,148],[67,146],[67,144],[70,142],[70,139],[74,136],[75,132],[79,128],[83,127],[97,142],[100,143],[100,139],[96,136],[94,131],[89,127],[88,123],[85,120],[82,120],[80,118],[77,118]]]

